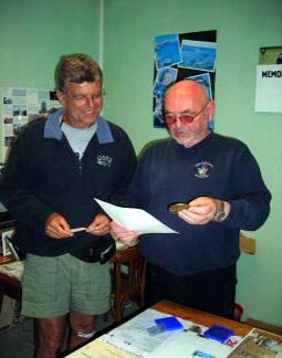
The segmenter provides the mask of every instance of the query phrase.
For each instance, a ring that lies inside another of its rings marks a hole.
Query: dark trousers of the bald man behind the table
[[[178,276],[148,263],[146,306],[168,299],[234,319],[236,284],[236,264],[190,276]]]

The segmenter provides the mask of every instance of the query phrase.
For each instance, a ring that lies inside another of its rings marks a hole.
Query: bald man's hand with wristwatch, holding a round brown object
[[[217,199],[199,197],[189,202],[189,208],[179,211],[178,217],[194,225],[203,225],[213,220],[217,211]],[[223,202],[226,217],[230,212],[228,201]]]

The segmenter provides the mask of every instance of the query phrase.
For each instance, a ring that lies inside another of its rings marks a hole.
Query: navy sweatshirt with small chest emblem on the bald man
[[[167,209],[197,197],[228,200],[222,222],[188,224]],[[240,255],[240,230],[257,230],[270,212],[271,194],[257,160],[238,139],[211,133],[185,148],[175,140],[149,147],[138,162],[128,198],[178,234],[142,235],[142,254],[176,275],[228,267]]]

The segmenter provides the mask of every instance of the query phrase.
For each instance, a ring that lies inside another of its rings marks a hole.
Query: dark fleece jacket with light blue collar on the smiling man
[[[103,213],[94,198],[118,204],[136,167],[125,131],[101,116],[80,159],[62,131],[63,114],[58,110],[21,130],[0,183],[0,198],[18,220],[15,244],[36,255],[60,255],[98,240],[86,232],[61,240],[46,236],[46,219],[58,212],[71,228],[88,227]]]

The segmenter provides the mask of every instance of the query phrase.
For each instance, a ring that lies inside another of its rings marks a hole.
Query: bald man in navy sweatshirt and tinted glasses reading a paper
[[[164,120],[173,139],[145,151],[128,202],[178,231],[139,238],[147,305],[169,299],[233,319],[239,233],[264,223],[271,194],[248,147],[209,129],[213,114],[198,82],[168,88]],[[115,222],[111,232],[124,243],[138,236]]]

